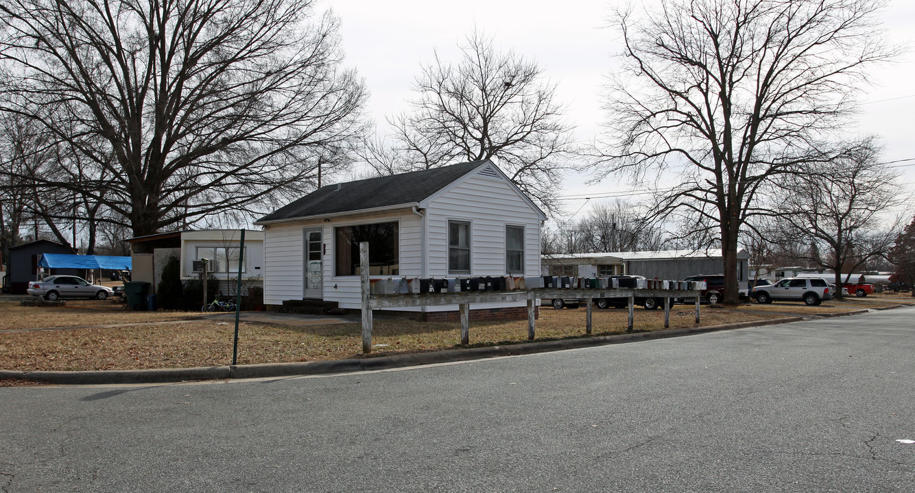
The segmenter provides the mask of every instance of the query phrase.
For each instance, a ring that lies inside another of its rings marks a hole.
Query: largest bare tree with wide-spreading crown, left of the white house
[[[135,236],[256,214],[362,131],[361,81],[313,3],[0,1],[0,110],[80,157],[38,185],[101,203]]]

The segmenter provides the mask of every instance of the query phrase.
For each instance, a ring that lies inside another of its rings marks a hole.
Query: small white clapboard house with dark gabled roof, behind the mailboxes
[[[537,275],[546,219],[490,160],[333,184],[265,215],[264,303],[315,299],[360,309],[359,243],[371,278]],[[524,303],[471,306],[506,311]],[[413,307],[420,319],[457,306]]]

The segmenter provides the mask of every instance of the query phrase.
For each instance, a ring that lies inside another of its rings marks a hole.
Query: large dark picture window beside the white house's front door
[[[399,226],[393,223],[334,228],[334,268],[337,276],[359,276],[359,244],[369,242],[369,274],[400,273]]]

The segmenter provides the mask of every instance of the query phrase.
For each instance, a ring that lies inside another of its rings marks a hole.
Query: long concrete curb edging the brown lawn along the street
[[[899,308],[898,307],[887,307]],[[818,318],[843,317],[867,313],[867,309],[845,313],[828,313]],[[749,327],[763,327],[795,321],[809,320],[804,317],[783,317],[771,320],[752,320],[746,322],[713,325],[710,327],[685,327],[683,329],[654,330],[651,332],[631,332],[599,337],[583,337],[564,339],[560,341],[522,342],[504,346],[485,346],[459,350],[412,352],[407,354],[394,354],[358,358],[350,360],[335,360],[329,362],[288,362],[264,364],[240,364],[231,366],[211,366],[201,368],[166,368],[156,370],[112,370],[92,372],[17,372],[0,370],[0,380],[24,380],[38,383],[59,383],[73,385],[87,384],[118,384],[118,383],[176,383],[194,380],[226,380],[270,378],[284,376],[321,375],[333,373],[369,372],[388,370],[425,364],[443,362],[462,362],[468,360],[483,360],[501,356],[516,356],[533,354],[537,352],[564,351],[609,344],[624,344],[636,341],[652,341],[684,337],[706,332],[720,330],[746,329]]]

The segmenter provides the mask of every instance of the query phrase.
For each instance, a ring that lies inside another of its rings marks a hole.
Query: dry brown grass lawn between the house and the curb
[[[862,309],[855,303],[827,302],[820,307],[802,303],[758,303],[737,307],[702,307],[700,326],[737,321],[770,320],[786,314],[823,314]],[[899,299],[909,301],[910,299]],[[867,299],[873,307],[898,304],[896,299]],[[536,341],[585,336],[584,308],[542,308],[536,323]],[[595,309],[592,335],[622,333],[626,309]],[[0,369],[19,371],[124,370],[221,366],[231,363],[234,325],[221,320],[182,320],[194,312],[127,311],[103,301],[68,301],[63,308],[20,307],[0,303]],[[662,309],[636,309],[635,330],[663,330]],[[163,323],[169,322],[169,323]],[[35,327],[136,323],[110,328],[80,328],[10,332]],[[677,305],[671,327],[694,327],[694,306]],[[4,333],[6,332],[6,333]],[[459,344],[458,322],[374,320],[372,355],[436,351],[465,347]],[[470,346],[527,341],[527,320],[471,322]],[[359,358],[361,328],[358,323],[291,327],[247,323],[240,326],[239,363],[307,362]]]

